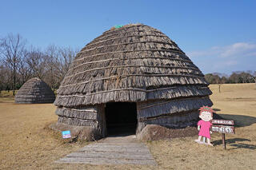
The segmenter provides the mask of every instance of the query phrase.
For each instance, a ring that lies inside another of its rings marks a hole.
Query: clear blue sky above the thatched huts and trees
[[[256,1],[0,0],[0,37],[81,49],[115,25],[143,23],[169,38],[203,73],[256,70]]]

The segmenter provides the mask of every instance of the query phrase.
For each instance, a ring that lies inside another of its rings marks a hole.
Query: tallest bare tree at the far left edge
[[[11,70],[11,80],[13,95],[15,94],[17,71],[19,63],[24,56],[26,40],[19,34],[9,34],[6,38],[2,38],[0,42],[0,55],[4,64]]]

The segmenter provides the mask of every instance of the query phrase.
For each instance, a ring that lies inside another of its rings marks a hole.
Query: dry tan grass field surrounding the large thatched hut
[[[57,121],[52,104],[18,105],[0,96],[0,169],[256,169],[256,88],[254,84],[210,85],[217,113],[235,121],[236,134],[214,133],[214,147],[194,142],[198,136],[146,142],[158,167],[136,165],[55,164],[88,144],[62,140],[46,128]]]

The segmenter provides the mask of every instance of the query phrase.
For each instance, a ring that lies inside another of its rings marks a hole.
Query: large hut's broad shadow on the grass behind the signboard
[[[250,126],[256,123],[256,117],[250,117],[245,115],[232,115],[232,114],[218,114],[227,120],[233,120],[234,126],[236,127],[245,127]]]

